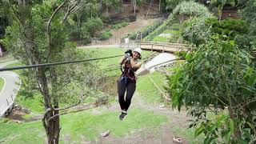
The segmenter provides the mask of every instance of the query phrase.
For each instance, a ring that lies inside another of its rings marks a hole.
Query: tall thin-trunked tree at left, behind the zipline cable
[[[76,0],[63,1],[9,1],[3,6],[10,10],[11,25],[6,29],[4,39],[6,48],[14,58],[26,65],[46,62],[59,62],[86,58],[90,55],[76,50],[74,43],[68,42],[66,19],[79,7]],[[94,69],[90,63],[82,65],[38,67],[24,70],[26,74],[26,90],[37,90],[43,96],[46,113],[42,124],[46,130],[48,143],[58,143],[61,130],[59,121],[62,110],[59,102],[68,96],[75,96],[74,101],[82,99],[90,93],[94,79],[86,78],[86,74]],[[78,91],[72,86],[80,86]],[[70,98],[70,97],[69,97]],[[76,100],[75,100],[76,99]]]

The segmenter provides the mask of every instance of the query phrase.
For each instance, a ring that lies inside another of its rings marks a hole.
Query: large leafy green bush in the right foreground
[[[255,136],[256,70],[250,54],[239,50],[234,41],[214,36],[192,54],[186,54],[186,61],[168,77],[172,105],[178,110],[185,105],[196,121],[206,120],[201,124],[205,128],[199,125],[208,133],[206,140],[213,140],[216,130],[225,133],[222,138],[230,135],[232,142],[248,141],[242,137],[244,129],[250,130],[250,138]],[[216,127],[206,117],[207,110],[219,114],[225,107],[229,112],[226,123],[232,121],[234,130]]]

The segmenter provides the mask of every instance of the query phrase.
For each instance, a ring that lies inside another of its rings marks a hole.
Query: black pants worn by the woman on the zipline
[[[122,110],[128,110],[136,89],[136,82],[130,78],[120,78],[118,82],[118,100]],[[126,92],[126,101],[125,101]]]

